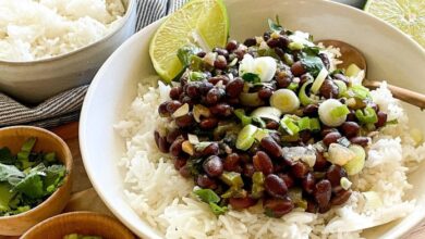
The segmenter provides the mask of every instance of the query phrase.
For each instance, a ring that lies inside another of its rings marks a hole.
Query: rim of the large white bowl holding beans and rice
[[[230,1],[230,0],[228,0],[228,1]],[[284,0],[284,1],[287,1],[287,0]],[[288,0],[288,1],[295,2],[295,0]],[[226,0],[224,0],[224,2],[226,2]],[[376,22],[377,24],[380,24],[380,26],[390,28],[393,32],[398,33],[398,35],[400,35],[405,40],[410,41],[411,45],[414,46],[417,54],[421,54],[425,59],[425,48],[423,48],[418,42],[413,40],[409,35],[404,34],[403,32],[401,32],[397,27],[390,25],[389,23],[385,22],[384,20],[380,20],[377,16],[372,15],[372,14],[369,14],[369,13],[363,11],[363,10],[356,9],[354,7],[347,5],[344,3],[335,2],[335,1],[331,1],[331,0],[301,0],[300,2],[304,2],[304,3],[308,3],[308,4],[312,3],[312,2],[320,2],[320,4],[323,4],[325,7],[329,7],[329,5],[332,7],[333,5],[333,7],[337,7],[337,8],[344,9],[344,11],[356,12],[356,14],[360,14],[363,17],[369,18],[372,22]],[[156,234],[157,230],[155,228],[153,228],[143,217],[139,217],[139,219],[143,221],[143,224],[146,227],[148,227],[150,229],[150,231],[144,231],[144,230],[141,230],[141,228],[136,228],[134,223],[132,223],[127,218],[126,215],[123,215],[120,212],[120,210],[117,209],[113,205],[113,203],[110,203],[110,200],[108,199],[107,194],[104,192],[102,188],[100,187],[100,184],[98,183],[98,179],[96,179],[96,177],[94,176],[93,172],[96,168],[89,167],[89,159],[88,159],[89,158],[88,155],[92,154],[92,153],[88,153],[88,151],[92,151],[93,149],[88,149],[88,147],[86,147],[86,142],[85,142],[87,140],[87,136],[86,135],[88,134],[87,133],[88,130],[87,130],[86,122],[87,122],[88,115],[90,113],[88,110],[92,106],[90,105],[90,103],[93,101],[92,98],[94,98],[95,92],[96,92],[96,90],[98,88],[98,85],[101,84],[101,76],[105,75],[104,72],[106,72],[106,68],[111,65],[112,59],[114,59],[114,55],[117,54],[117,52],[120,52],[121,49],[123,49],[125,46],[134,43],[136,41],[136,39],[138,39],[141,36],[144,36],[145,29],[150,29],[151,27],[157,26],[167,16],[163,16],[163,17],[161,17],[161,18],[150,23],[149,25],[145,26],[138,33],[134,34],[132,37],[126,39],[118,49],[116,49],[116,51],[109,56],[109,59],[104,63],[104,65],[99,68],[99,71],[97,72],[96,76],[94,77],[94,79],[93,79],[93,81],[92,81],[92,84],[90,84],[90,86],[89,86],[89,88],[87,90],[87,93],[85,96],[83,108],[82,108],[82,111],[81,111],[81,117],[80,117],[80,129],[78,129],[80,137],[78,137],[78,139],[80,139],[80,148],[81,148],[81,153],[82,153],[82,160],[83,160],[83,164],[85,166],[85,169],[87,172],[87,176],[90,179],[94,189],[96,190],[96,192],[98,193],[99,198],[105,202],[107,207],[113,213],[113,215],[117,218],[119,218],[126,227],[129,227],[131,230],[133,230],[136,235],[138,235],[138,236],[143,235],[144,237],[148,237],[148,235]],[[126,106],[130,106],[130,105],[126,105]],[[125,203],[129,204],[127,201],[125,201]],[[398,231],[393,232],[392,236],[401,237],[402,235],[405,235],[410,229],[412,229],[412,227],[417,225],[424,218],[425,218],[425,211],[422,211],[422,212],[415,214],[415,217],[413,217],[408,223],[404,223],[404,225],[402,225],[402,227],[400,227]],[[388,238],[388,235],[384,235],[384,236],[386,236],[386,238]]]

